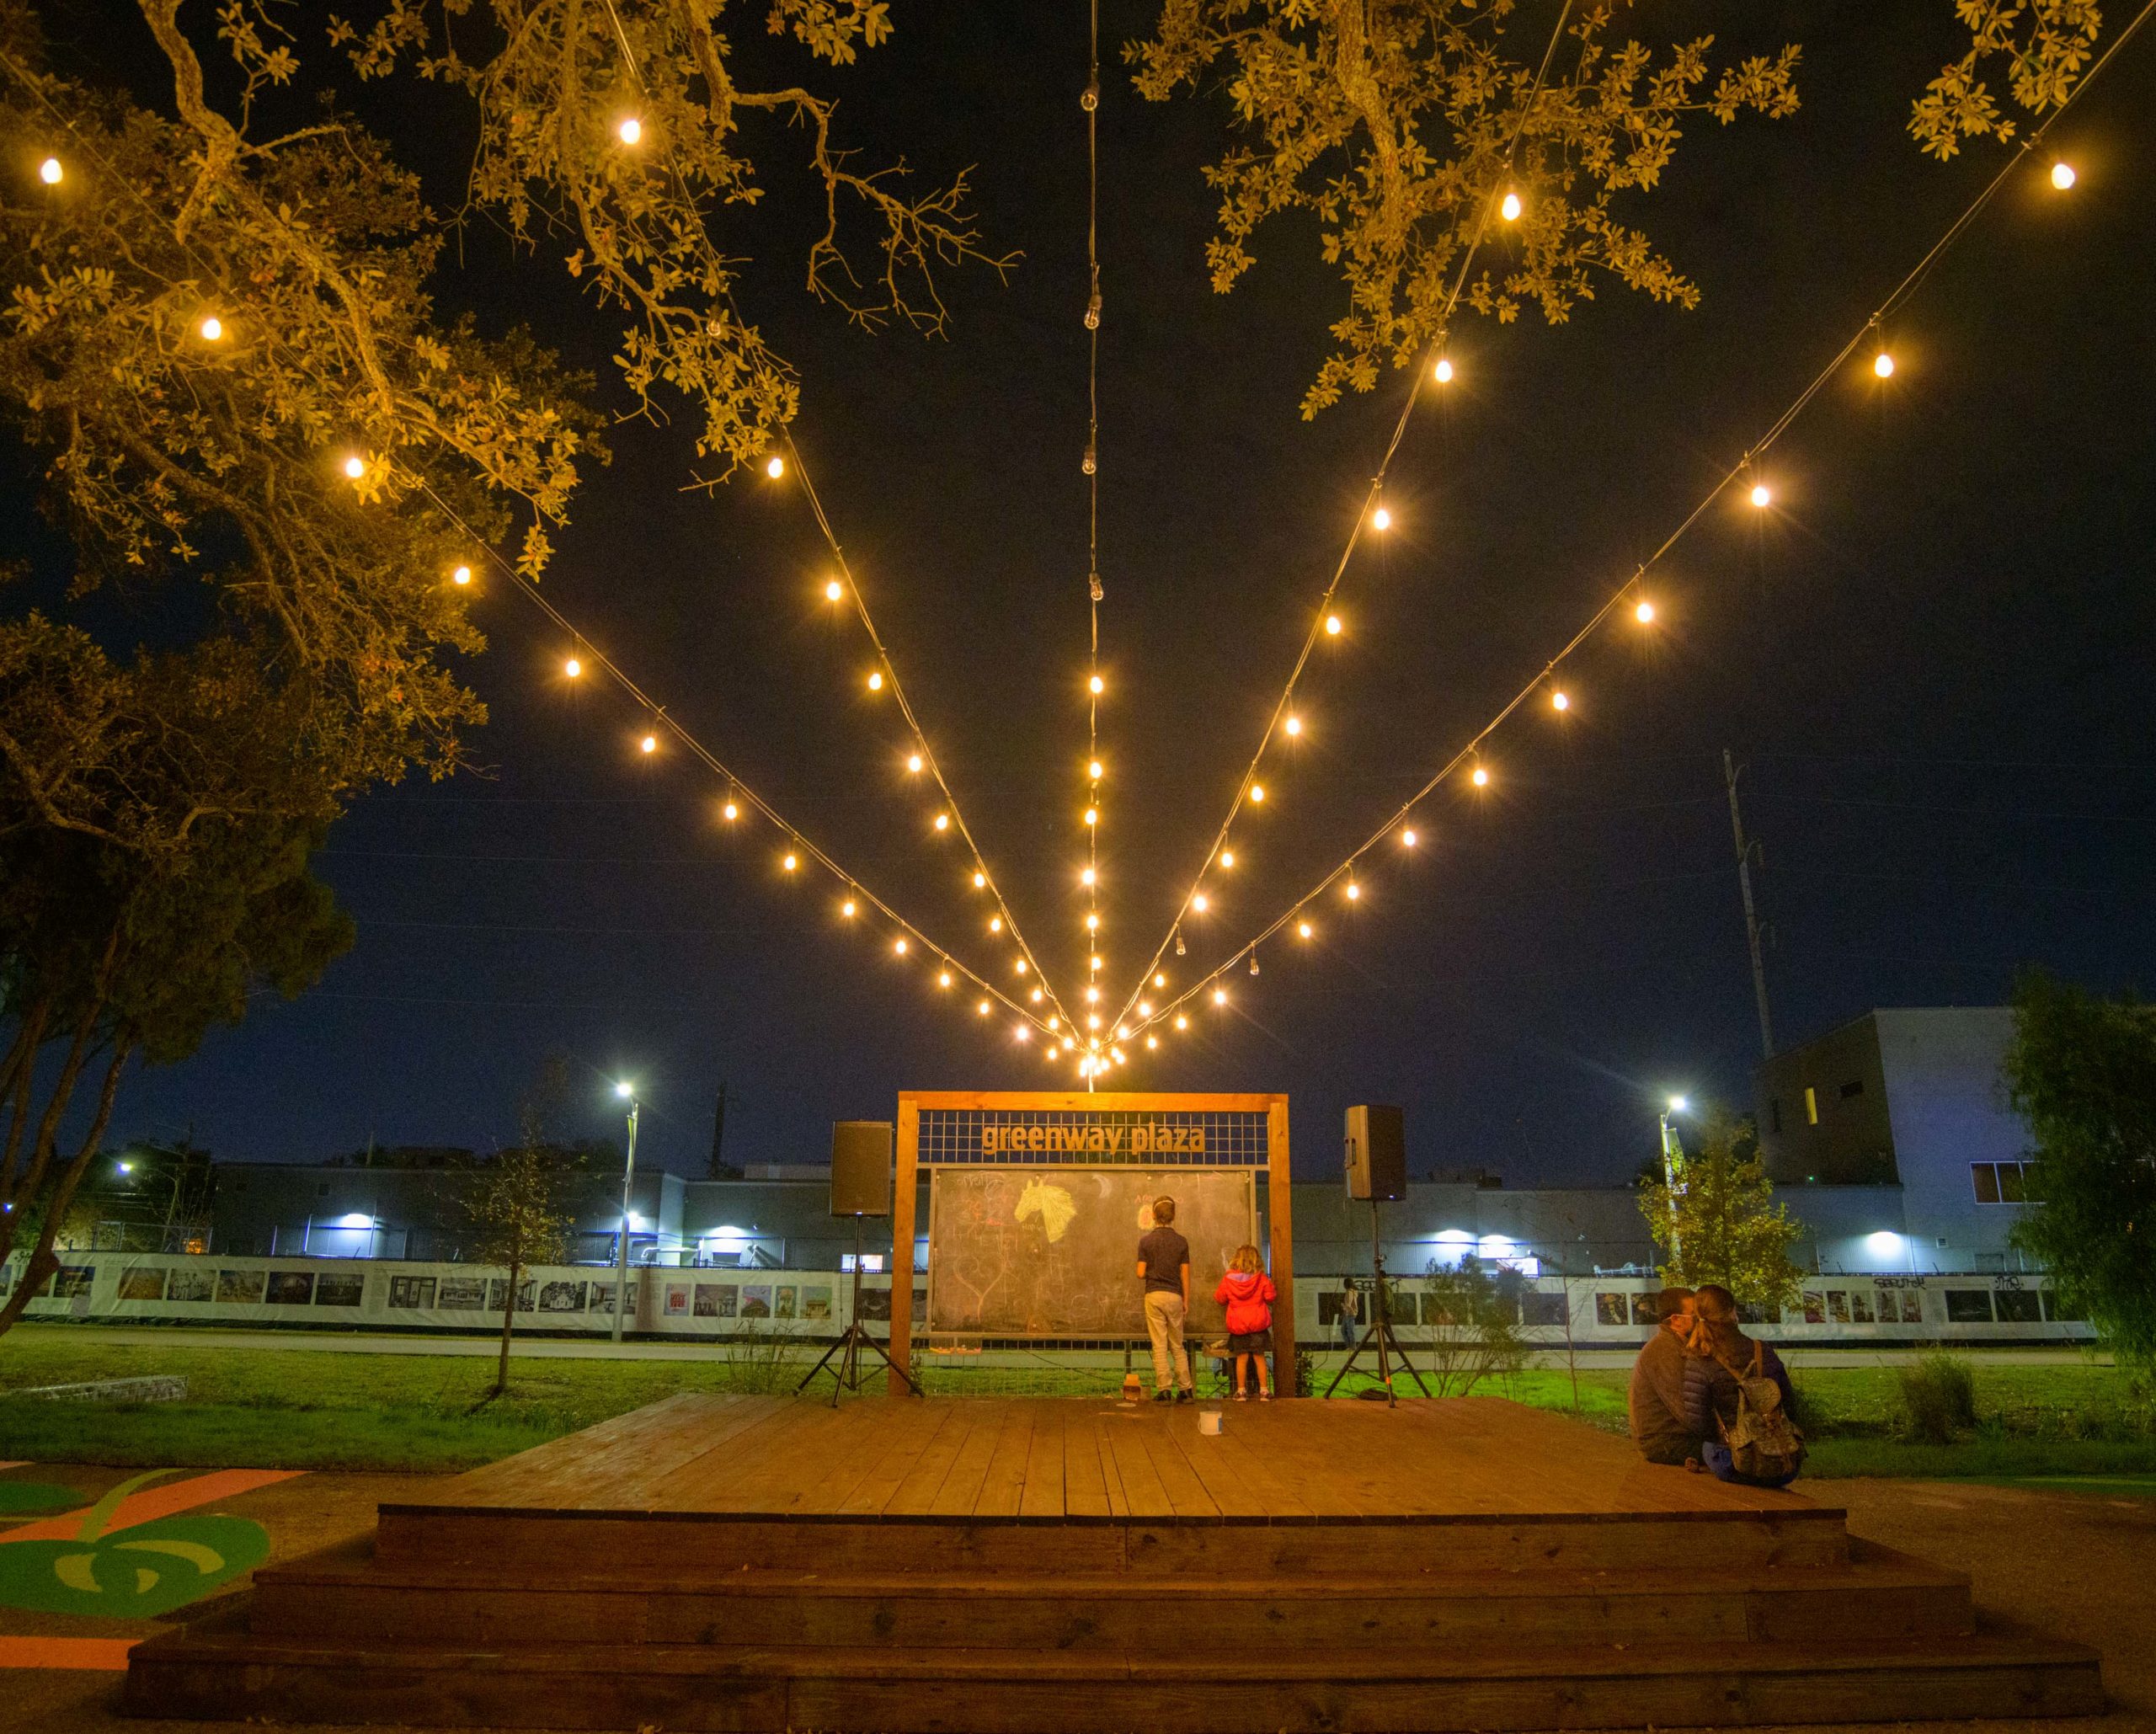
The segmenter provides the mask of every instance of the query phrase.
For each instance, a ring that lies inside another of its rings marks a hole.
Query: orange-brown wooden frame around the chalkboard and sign
[[[1266,1240],[1272,1253],[1272,1389],[1296,1393],[1296,1238],[1287,1169],[1285,1096],[1164,1096],[1084,1089],[901,1089],[899,1171],[890,1197],[890,1395],[914,1370],[914,1201],[921,1186],[921,1111],[983,1113],[1261,1113],[1266,1115]],[[1283,1341],[1285,1329],[1285,1341]]]

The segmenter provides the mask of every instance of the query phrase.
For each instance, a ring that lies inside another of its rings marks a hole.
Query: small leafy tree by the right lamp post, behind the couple
[[[1738,1300],[1781,1307],[1805,1279],[1789,1257],[1805,1225],[1774,1203],[1749,1119],[1710,1119],[1699,1152],[1673,1175],[1641,1175],[1639,1214],[1662,1253],[1664,1283],[1720,1283]]]

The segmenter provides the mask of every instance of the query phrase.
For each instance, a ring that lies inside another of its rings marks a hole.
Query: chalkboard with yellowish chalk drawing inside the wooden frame
[[[1248,1169],[938,1167],[929,1182],[931,1333],[1143,1337],[1138,1238],[1175,1199],[1190,1242],[1190,1329],[1218,1337],[1214,1288],[1257,1240]]]

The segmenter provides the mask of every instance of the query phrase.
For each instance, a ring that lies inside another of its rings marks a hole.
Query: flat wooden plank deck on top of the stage
[[[448,1482],[399,1512],[727,1512],[856,1520],[1309,1523],[1807,1512],[1643,1464],[1498,1398],[1225,1404],[679,1395]]]

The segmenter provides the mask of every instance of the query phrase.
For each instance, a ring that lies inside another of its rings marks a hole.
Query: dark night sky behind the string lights
[[[1022,11],[1013,26],[994,9],[990,28],[985,9],[910,0],[890,45],[815,73],[871,155],[903,151],[923,177],[977,164],[987,242],[1024,252],[1007,285],[944,278],[946,341],[865,334],[802,293],[813,188],[776,125],[752,138],[768,209],[724,239],[755,259],[744,311],[800,367],[793,438],[962,811],[1074,996],[1084,6]],[[1546,11],[1522,6],[1518,52]],[[1106,4],[1104,39],[1149,15]],[[1725,50],[1802,41],[1802,112],[1697,121],[1664,188],[1630,205],[1701,285],[1697,313],[1611,285],[1561,328],[1462,321],[1460,377],[1395,462],[1397,526],[1348,576],[1348,632],[1300,692],[1307,735],[1268,759],[1240,865],[1171,958],[1181,973],[1238,949],[1449,759],[1999,166],[1977,147],[1943,168],[1904,132],[1955,52],[1943,0],[1656,6],[1641,24],[1658,43],[1695,24]],[[791,75],[761,26],[735,32]],[[82,41],[58,35],[65,65]],[[328,67],[319,41],[302,50]],[[1149,106],[1119,73],[1104,84],[1117,1001],[1225,813],[1406,380],[1300,421],[1343,300],[1313,224],[1261,231],[1259,270],[1214,295],[1199,166],[1222,95]],[[1751,1100],[1725,746],[1766,852],[1783,1042],[1874,1005],[1999,1003],[2031,962],[2152,986],[2152,99],[2156,37],[2055,132],[2078,185],[2055,194],[2042,162],[2007,185],[1887,332],[1893,380],[1861,362],[1813,401],[1766,466],[1774,509],[1731,494],[1705,513],[1651,582],[1656,628],[1619,619],[1572,664],[1570,716],[1524,707],[1490,746],[1483,796],[1440,792],[1412,861],[1376,852],[1352,912],[1322,902],[1317,942],[1266,947],[1227,1012],[1203,1007],[1115,1083],[1289,1091],[1304,1178],[1335,1171],[1345,1104],[1393,1100],[1416,1171],[1626,1180],[1667,1091]],[[410,88],[369,101],[453,205],[468,114]],[[442,298],[489,326],[530,321],[619,405],[617,326],[552,252],[513,259],[474,229]],[[683,410],[617,429],[548,595],[847,871],[1009,979],[962,852],[903,774],[895,707],[865,692],[869,649],[821,600],[800,492],[761,477],[681,492],[692,425]],[[582,1091],[565,1134],[604,1134],[606,1081],[627,1074],[642,1154],[701,1173],[720,1081],[735,1162],[824,1160],[830,1119],[888,1117],[903,1087],[1074,1081],[1015,1046],[1007,1016],[944,1003],[886,932],[841,923],[837,882],[787,882],[785,839],[729,832],[724,787],[683,753],[642,761],[634,710],[558,677],[571,645],[507,580],[479,619],[485,774],[364,800],[321,858],[358,947],[306,999],[261,1001],[192,1061],[134,1078],[116,1139],[192,1132],[259,1160],[369,1139],[492,1147],[563,1052]]]

